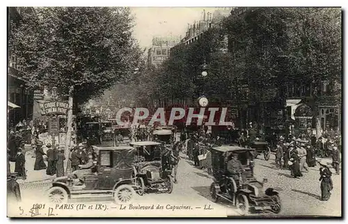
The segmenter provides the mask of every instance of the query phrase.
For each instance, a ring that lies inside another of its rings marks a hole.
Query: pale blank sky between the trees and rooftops
[[[182,35],[187,31],[187,24],[199,20],[201,13],[214,12],[216,8],[132,8],[136,17],[134,37],[142,48],[152,44],[152,36]]]

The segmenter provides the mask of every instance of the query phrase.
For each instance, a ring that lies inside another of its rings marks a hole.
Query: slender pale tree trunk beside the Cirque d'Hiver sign
[[[67,121],[68,132],[66,133],[66,138],[65,138],[65,158],[68,160],[65,173],[67,174],[71,173],[71,163],[70,163],[69,157],[70,157],[70,142],[71,142],[71,132],[72,132],[72,106],[74,103],[73,92],[74,92],[74,87],[71,86],[69,89],[69,105],[68,105],[68,121]]]

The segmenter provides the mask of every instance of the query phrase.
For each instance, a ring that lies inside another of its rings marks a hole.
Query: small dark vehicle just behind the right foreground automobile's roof
[[[241,143],[240,146],[254,148],[255,158],[262,153],[264,160],[268,161],[269,156],[271,155],[271,148],[269,147],[269,143],[264,140],[263,135],[258,135],[254,139],[247,139],[246,142],[244,144]]]

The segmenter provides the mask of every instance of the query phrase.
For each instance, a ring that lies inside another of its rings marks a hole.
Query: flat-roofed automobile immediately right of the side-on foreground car
[[[136,148],[136,177],[141,178],[144,192],[171,193],[173,180],[171,179],[171,166],[168,155],[163,150],[163,144],[155,141],[135,141],[130,143]]]

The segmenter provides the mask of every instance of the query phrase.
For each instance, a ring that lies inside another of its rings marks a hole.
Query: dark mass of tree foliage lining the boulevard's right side
[[[331,96],[340,101],[340,8],[259,8],[230,15],[222,26],[205,32],[198,42],[175,51],[164,62],[157,81],[163,98],[196,97],[205,89],[209,98],[249,102],[287,98],[287,83],[335,83]],[[228,35],[228,53],[219,51]],[[207,59],[208,76],[197,79]],[[241,86],[248,95],[241,96]],[[238,98],[238,97],[237,97]]]

